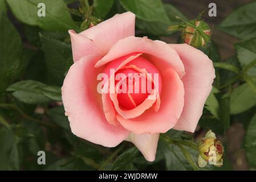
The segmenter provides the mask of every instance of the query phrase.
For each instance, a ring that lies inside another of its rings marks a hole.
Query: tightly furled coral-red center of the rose
[[[139,106],[154,89],[159,89],[159,94],[161,92],[159,71],[143,57],[137,57],[125,65],[115,73],[115,77],[117,100],[122,109],[131,110]]]

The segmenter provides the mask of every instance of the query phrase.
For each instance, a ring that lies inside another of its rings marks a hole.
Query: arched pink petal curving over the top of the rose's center
[[[128,55],[133,52],[143,52],[149,55],[158,57],[166,64],[171,66],[182,77],[184,72],[184,65],[180,60],[177,52],[173,48],[170,48],[168,44],[160,40],[150,40],[146,37],[136,38],[135,36],[129,36],[119,40],[101,60],[99,60],[95,67],[100,67],[110,61],[117,59],[118,57]]]

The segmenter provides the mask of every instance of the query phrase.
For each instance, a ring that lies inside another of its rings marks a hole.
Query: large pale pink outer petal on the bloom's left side
[[[129,131],[105,119],[96,89],[97,73],[102,72],[94,68],[98,59],[95,55],[85,56],[70,67],[62,86],[62,100],[72,133],[90,142],[114,147],[127,138]]]

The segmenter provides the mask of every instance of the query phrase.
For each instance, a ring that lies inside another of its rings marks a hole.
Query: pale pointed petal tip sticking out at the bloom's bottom
[[[153,162],[156,158],[157,143],[159,141],[159,133],[136,135],[130,133],[127,141],[132,142],[143,154],[144,158],[149,162]]]

